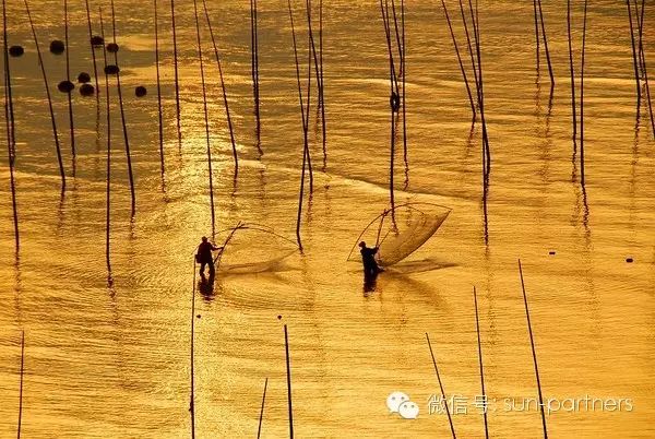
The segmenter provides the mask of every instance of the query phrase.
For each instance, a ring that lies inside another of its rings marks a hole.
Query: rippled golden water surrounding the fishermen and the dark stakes
[[[23,330],[25,438],[190,435],[192,254],[200,237],[211,234],[192,4],[176,2],[182,123],[178,144],[170,9],[157,2],[166,139],[162,176],[153,4],[116,2],[136,212],[131,217],[112,80],[111,284],[105,261],[104,78],[99,108],[95,98],[73,94],[73,177],[68,104],[56,87],[66,76],[64,58],[47,51],[51,39],[63,38],[62,4],[31,3],[64,153],[68,186],[62,197],[24,7],[19,1],[8,4],[10,45],[24,45],[26,52],[11,59],[17,253],[5,153],[0,162],[0,437],[16,434]],[[92,11],[95,33],[97,5]],[[109,4],[102,5],[109,35]],[[464,47],[456,3],[448,5]],[[254,222],[294,239],[302,129],[286,2],[259,2],[263,154],[252,110],[249,4],[211,0],[207,7],[222,50],[240,165],[235,181],[218,72],[203,27],[217,228]],[[647,60],[655,56],[653,7],[646,2]],[[306,17],[300,3],[295,8],[305,60]],[[582,9],[577,3],[574,8],[579,63]],[[76,75],[93,68],[84,3],[71,1],[69,9],[71,71]],[[471,109],[443,12],[436,1],[407,2],[408,173],[405,185],[398,151],[396,201],[438,203],[452,213],[432,239],[381,274],[376,289],[366,293],[360,266],[346,258],[357,235],[389,203],[388,51],[377,2],[326,1],[323,15],[327,157],[323,170],[313,94],[314,191],[302,214],[305,251],[287,259],[284,270],[245,275],[219,271],[213,294],[195,290],[196,436],[255,437],[266,378],[262,437],[288,436],[287,324],[296,437],[451,435],[446,416],[429,413],[429,400],[440,389],[426,333],[445,393],[457,396],[460,411],[466,407],[467,413],[453,414],[457,435],[484,437],[481,413],[473,406],[481,393],[475,286],[485,384],[492,401],[489,434],[543,437],[534,405],[509,410],[504,403],[510,399],[520,405],[537,398],[519,259],[544,398],[631,400],[621,410],[553,410],[546,417],[549,435],[655,436],[655,141],[645,112],[635,129],[626,5],[590,3],[583,191],[580,167],[572,159],[565,4],[544,2],[556,74],[549,111],[545,63],[535,83],[532,3],[479,2],[492,155],[485,224],[481,129],[477,123],[471,130]],[[134,97],[136,85],[147,87],[146,97]],[[258,242],[252,247],[255,254]],[[627,258],[634,262],[627,263]],[[385,400],[394,391],[417,403],[418,418],[389,413]]]

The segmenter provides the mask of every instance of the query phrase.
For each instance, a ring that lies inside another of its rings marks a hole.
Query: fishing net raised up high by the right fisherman
[[[358,244],[378,247],[378,264],[390,266],[407,258],[434,235],[451,210],[431,203],[406,203],[378,215],[359,235],[348,261],[361,259]]]

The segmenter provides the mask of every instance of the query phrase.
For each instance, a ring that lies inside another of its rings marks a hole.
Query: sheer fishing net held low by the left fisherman
[[[284,260],[298,251],[290,239],[253,223],[239,223],[216,234],[216,271],[224,274],[251,274],[283,269]]]

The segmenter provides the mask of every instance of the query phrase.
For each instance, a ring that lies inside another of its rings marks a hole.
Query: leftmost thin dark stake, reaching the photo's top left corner
[[[7,35],[7,1],[2,0],[2,41],[4,51],[4,117],[7,121],[7,153],[9,159],[9,180],[11,188],[11,205],[13,212],[14,242],[16,252],[21,248],[19,230],[19,209],[16,200],[15,159],[16,141],[13,112],[13,94],[11,90],[11,69],[9,66],[9,44]]]

